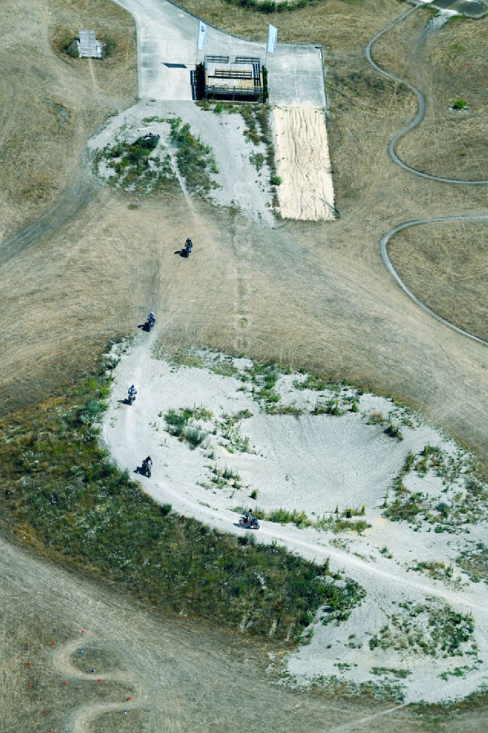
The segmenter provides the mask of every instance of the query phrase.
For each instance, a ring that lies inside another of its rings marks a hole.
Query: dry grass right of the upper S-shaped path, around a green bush
[[[487,178],[488,18],[456,18],[434,34],[424,33],[429,8],[413,13],[373,47],[386,70],[407,78],[426,97],[426,117],[402,138],[396,152],[408,165],[440,177]],[[465,111],[452,111],[456,99]]]

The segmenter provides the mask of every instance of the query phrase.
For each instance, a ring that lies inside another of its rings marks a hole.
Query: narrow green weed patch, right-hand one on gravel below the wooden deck
[[[166,120],[171,126],[171,140],[177,145],[178,170],[185,178],[188,190],[199,196],[206,196],[216,184],[210,178],[209,169],[218,172],[212,149],[191,134],[189,122],[180,117]]]

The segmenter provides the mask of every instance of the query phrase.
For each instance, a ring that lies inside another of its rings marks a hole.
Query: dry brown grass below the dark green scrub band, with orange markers
[[[428,711],[399,710],[373,699],[366,709],[364,700],[344,698],[340,690],[333,695],[273,684],[265,649],[205,623],[196,628],[182,616],[149,613],[4,539],[0,550],[0,693],[8,701],[2,732],[38,733],[52,726],[70,733],[155,733],[161,721],[165,730],[196,733],[239,733],[250,726],[262,733],[322,733],[341,726],[356,730],[355,720],[358,730],[373,723],[378,733],[432,729]],[[103,706],[114,704],[116,710],[104,712]],[[89,715],[96,705],[100,715]],[[451,716],[444,710],[434,715],[436,730],[448,733]],[[456,713],[455,720],[463,731],[483,730],[483,721],[469,711]]]

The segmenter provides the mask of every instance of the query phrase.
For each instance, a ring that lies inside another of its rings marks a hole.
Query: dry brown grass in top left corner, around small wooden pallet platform
[[[110,0],[53,0],[48,9],[21,0],[2,3],[0,12],[0,234],[7,236],[75,187],[87,137],[136,96],[136,29]],[[80,27],[113,37],[114,55],[101,62],[62,54],[59,42]]]

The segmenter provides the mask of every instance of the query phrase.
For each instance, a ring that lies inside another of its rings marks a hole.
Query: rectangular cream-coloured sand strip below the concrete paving
[[[315,107],[275,107],[276,172],[283,218],[330,221],[334,190],[325,114]]]

